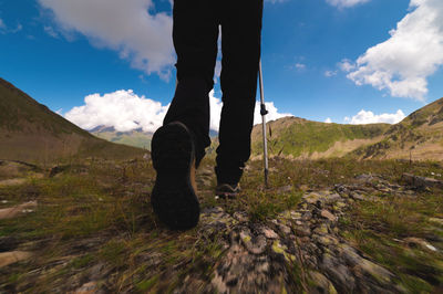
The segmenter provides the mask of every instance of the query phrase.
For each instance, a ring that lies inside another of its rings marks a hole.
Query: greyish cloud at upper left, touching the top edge
[[[167,78],[175,61],[172,17],[153,0],[39,0],[60,29],[80,32],[97,46],[119,51],[135,69]]]

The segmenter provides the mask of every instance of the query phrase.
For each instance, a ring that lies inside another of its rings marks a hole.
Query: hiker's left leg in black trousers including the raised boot
[[[210,144],[209,97],[217,54],[215,0],[174,1],[177,87],[172,105],[152,139],[156,170],[151,204],[169,229],[187,230],[199,219],[195,167]]]

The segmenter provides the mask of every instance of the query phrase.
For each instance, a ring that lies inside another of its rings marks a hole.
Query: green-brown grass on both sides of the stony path
[[[1,187],[8,206],[37,200],[39,208],[12,220],[0,221],[0,238],[13,235],[38,258],[0,269],[0,288],[7,292],[50,292],[89,282],[91,269],[102,264],[99,282],[111,292],[172,292],[186,279],[208,283],[224,255],[220,235],[197,229],[171,232],[158,223],[150,207],[155,172],[150,161],[85,160],[72,162],[53,178],[28,176],[27,183]],[[74,168],[75,166],[75,168]],[[203,169],[212,169],[205,158]],[[228,213],[245,211],[255,222],[293,209],[306,189],[352,183],[361,174],[381,175],[401,182],[403,172],[443,175],[440,162],[354,161],[347,159],[270,160],[269,186],[264,189],[260,161],[250,161],[236,201],[215,200],[214,178],[202,187],[202,207],[220,206]],[[281,187],[286,187],[281,190]],[[411,249],[393,241],[406,237],[442,237],[427,219],[443,217],[441,191],[422,191],[416,199],[389,198],[359,202],[341,220],[343,237],[396,273],[404,287],[431,292],[442,282],[440,253]],[[443,246],[442,246],[443,248]],[[42,271],[42,269],[45,269]],[[303,269],[288,272],[298,281]],[[306,277],[305,277],[306,279]],[[197,283],[197,282],[196,282]],[[197,283],[197,284],[198,284]],[[301,288],[300,288],[301,290]]]

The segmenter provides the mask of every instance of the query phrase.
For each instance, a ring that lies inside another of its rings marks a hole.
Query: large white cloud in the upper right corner
[[[425,99],[426,78],[443,64],[443,1],[411,0],[410,9],[389,40],[357,60],[348,78],[395,97]]]

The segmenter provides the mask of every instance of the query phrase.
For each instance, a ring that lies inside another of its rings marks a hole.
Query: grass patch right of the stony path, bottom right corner
[[[430,224],[443,216],[441,191],[418,191],[414,199],[390,197],[379,202],[356,202],[341,220],[343,237],[378,263],[400,276],[411,293],[430,293],[443,283],[443,242],[437,251],[410,246],[404,239],[442,240],[442,230]]]

